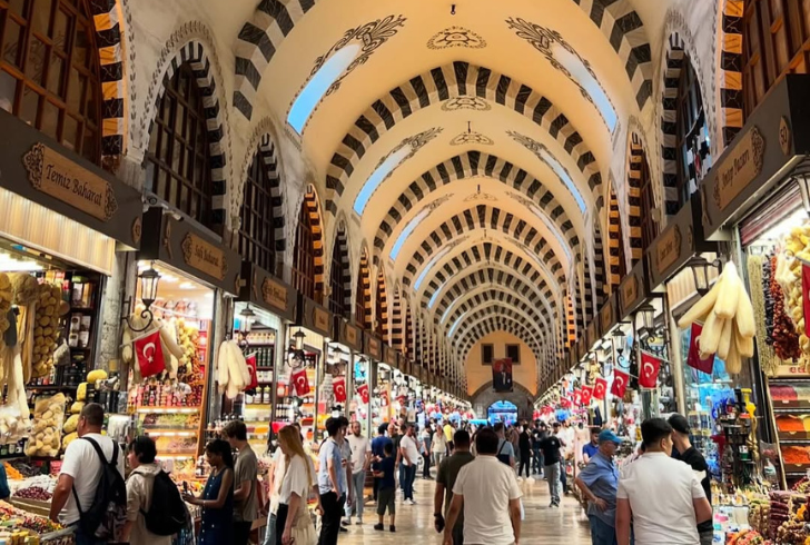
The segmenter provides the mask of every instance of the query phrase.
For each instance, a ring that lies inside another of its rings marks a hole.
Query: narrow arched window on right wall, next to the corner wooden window
[[[675,98],[675,150],[678,208],[698,190],[702,177],[702,146],[705,141],[705,113],[700,93],[698,75],[689,56],[683,53],[683,65]]]

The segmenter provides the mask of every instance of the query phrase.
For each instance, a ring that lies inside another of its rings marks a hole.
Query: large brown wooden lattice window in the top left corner
[[[87,0],[0,0],[0,108],[101,158],[101,85]]]

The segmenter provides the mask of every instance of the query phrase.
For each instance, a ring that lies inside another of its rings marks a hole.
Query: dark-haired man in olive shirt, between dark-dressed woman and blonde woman
[[[253,522],[258,516],[257,476],[259,460],[247,443],[247,426],[231,420],[223,428],[230,448],[236,449],[234,467],[234,545],[247,545]]]

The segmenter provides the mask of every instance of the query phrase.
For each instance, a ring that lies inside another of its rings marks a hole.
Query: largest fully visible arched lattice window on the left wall
[[[214,224],[205,105],[188,63],[166,83],[158,103],[146,152],[146,188],[200,224]]]

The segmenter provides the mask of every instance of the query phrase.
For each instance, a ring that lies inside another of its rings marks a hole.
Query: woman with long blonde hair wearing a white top
[[[315,545],[318,538],[307,509],[307,497],[315,484],[315,467],[294,426],[279,430],[278,444],[284,454],[285,473],[276,513],[275,545]]]

